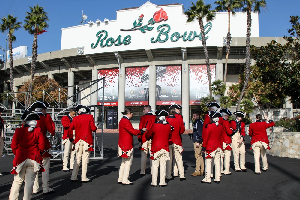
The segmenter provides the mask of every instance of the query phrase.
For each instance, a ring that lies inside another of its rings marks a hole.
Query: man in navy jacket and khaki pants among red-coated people
[[[200,119],[200,112],[193,112],[193,120],[195,120],[193,128],[193,142],[196,158],[196,168],[195,172],[191,174],[192,176],[201,176],[204,172],[204,160],[202,157],[202,130],[203,130],[203,121]]]

